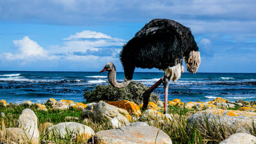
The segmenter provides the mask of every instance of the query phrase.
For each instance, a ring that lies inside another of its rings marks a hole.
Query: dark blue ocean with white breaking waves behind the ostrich
[[[107,72],[0,71],[0,99],[8,103],[23,101],[43,103],[49,98],[85,101],[84,90],[107,85]],[[133,81],[152,86],[164,73],[135,72]],[[124,73],[117,73],[117,81]],[[155,91],[164,101],[164,87]],[[216,97],[235,101],[256,101],[256,73],[182,73],[177,82],[170,82],[168,100],[212,101]]]

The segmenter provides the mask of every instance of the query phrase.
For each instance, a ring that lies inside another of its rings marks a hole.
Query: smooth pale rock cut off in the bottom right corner
[[[251,134],[232,134],[219,144],[256,144],[256,137]]]

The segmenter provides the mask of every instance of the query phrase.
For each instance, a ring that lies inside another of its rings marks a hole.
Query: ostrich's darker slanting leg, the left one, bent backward
[[[150,94],[163,82],[163,78],[160,78],[153,86],[151,86],[150,88],[148,88],[148,90],[146,90],[143,93],[143,107],[142,107],[142,111],[144,111],[147,107],[148,107],[148,99],[150,97]]]

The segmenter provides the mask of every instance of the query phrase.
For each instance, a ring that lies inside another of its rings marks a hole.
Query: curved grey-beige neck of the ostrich
[[[128,80],[127,78],[125,78],[122,83],[118,83],[115,78],[116,78],[116,71],[113,69],[112,71],[108,72],[108,81],[115,88],[124,88],[124,87],[128,86],[128,84],[131,81],[131,80]]]

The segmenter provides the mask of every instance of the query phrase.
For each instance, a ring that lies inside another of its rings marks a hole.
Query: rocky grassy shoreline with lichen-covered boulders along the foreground
[[[56,101],[51,98],[45,104],[25,101],[20,105],[14,105],[7,104],[5,100],[1,100],[0,104],[1,142],[8,144],[200,142],[200,139],[193,139],[192,134],[214,144],[230,144],[228,141],[235,141],[236,144],[256,142],[256,105],[248,101],[232,103],[216,98],[213,101],[184,104],[179,99],[174,99],[168,101],[169,114],[162,113],[163,101],[149,102],[143,112],[143,104],[137,105],[132,101],[99,101],[83,104],[71,100]],[[13,114],[6,114],[10,109],[20,109],[21,113],[14,118]],[[46,119],[42,123],[38,118],[41,113],[45,116],[50,113],[70,113],[70,116],[54,121],[54,124],[52,119]],[[72,113],[80,116],[71,116]],[[15,124],[9,124],[10,122]],[[179,131],[183,134],[177,135]],[[187,138],[182,138],[182,135]],[[201,142],[207,143],[202,140]]]

